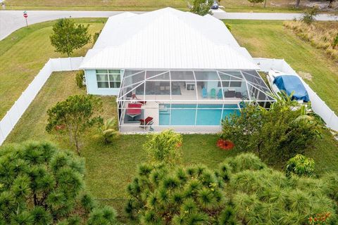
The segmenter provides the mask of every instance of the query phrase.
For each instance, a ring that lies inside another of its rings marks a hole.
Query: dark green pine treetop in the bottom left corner
[[[84,160],[51,143],[1,147],[0,224],[80,224],[94,217],[83,176]]]

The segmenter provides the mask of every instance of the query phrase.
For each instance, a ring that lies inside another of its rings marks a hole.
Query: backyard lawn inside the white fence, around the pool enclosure
[[[55,72],[39,92],[32,105],[13,129],[6,143],[27,140],[53,141],[62,148],[72,149],[68,139],[47,134],[46,110],[58,101],[62,101],[72,94],[85,94],[84,89],[75,85],[76,72]],[[115,97],[102,97],[104,101],[104,118],[116,114]],[[85,134],[82,145],[82,156],[86,160],[87,174],[85,180],[90,192],[102,203],[113,205],[123,215],[123,205],[127,193],[125,188],[132,180],[137,165],[146,161],[146,154],[142,144],[146,141],[145,135],[122,135],[115,143],[105,146],[94,136],[96,129]],[[332,139],[327,131],[315,146],[308,149],[306,155],[314,158],[318,174],[338,170],[338,143]],[[184,135],[183,136],[183,163],[185,165],[204,163],[215,168],[230,155],[238,152],[225,152],[215,146],[218,135]],[[282,165],[274,165],[281,169]],[[124,221],[124,218],[121,218]]]

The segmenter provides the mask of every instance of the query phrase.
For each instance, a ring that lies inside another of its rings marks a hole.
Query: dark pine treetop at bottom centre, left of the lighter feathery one
[[[237,224],[222,182],[204,166],[141,165],[127,191],[126,212],[140,224]]]

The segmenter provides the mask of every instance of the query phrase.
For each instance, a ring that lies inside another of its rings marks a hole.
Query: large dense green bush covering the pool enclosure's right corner
[[[232,141],[235,148],[255,151],[268,162],[286,162],[315,141],[320,122],[303,105],[290,96],[275,96],[270,109],[245,105],[240,115],[230,115],[223,121],[221,137]]]

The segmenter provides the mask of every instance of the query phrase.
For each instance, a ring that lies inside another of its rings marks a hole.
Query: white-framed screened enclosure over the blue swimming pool
[[[275,101],[256,70],[124,70],[118,94],[121,132],[220,131],[245,103]]]

